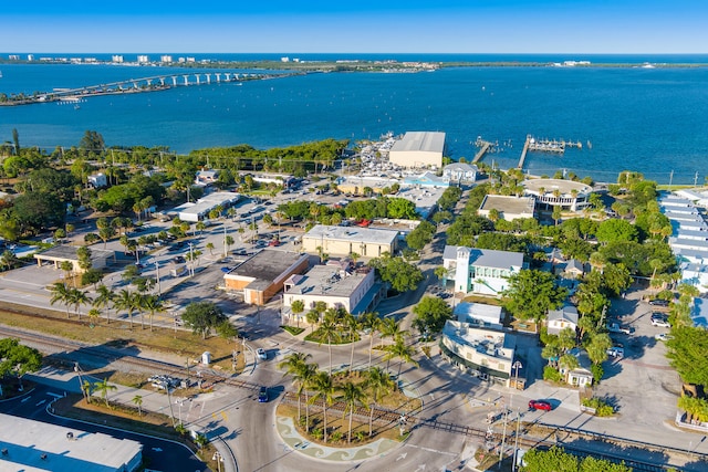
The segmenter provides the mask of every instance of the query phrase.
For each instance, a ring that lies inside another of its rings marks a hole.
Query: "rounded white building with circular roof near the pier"
[[[582,182],[563,179],[530,179],[521,182],[524,195],[535,198],[537,206],[549,209],[561,207],[562,210],[581,211],[590,207],[593,188]]]

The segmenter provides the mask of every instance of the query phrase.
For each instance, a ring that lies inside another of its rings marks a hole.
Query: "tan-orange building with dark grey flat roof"
[[[227,291],[242,291],[246,303],[264,305],[282,290],[288,277],[308,270],[309,259],[308,254],[264,249],[223,274],[223,285]]]

